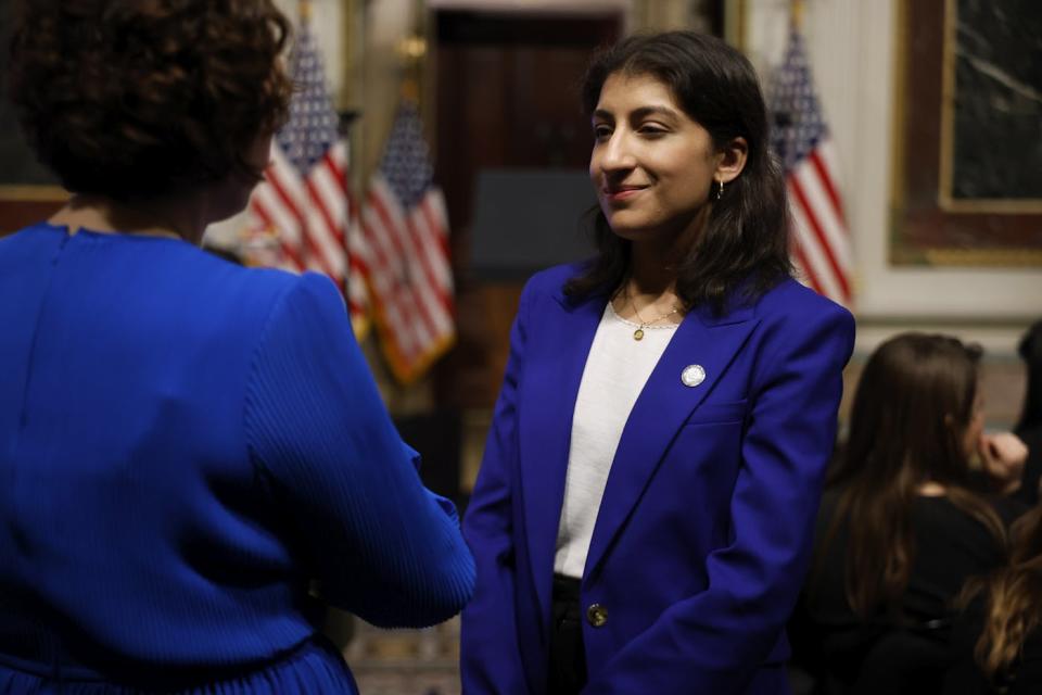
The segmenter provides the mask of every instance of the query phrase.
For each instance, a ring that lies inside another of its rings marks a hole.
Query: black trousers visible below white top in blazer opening
[[[579,695],[586,685],[586,652],[583,648],[583,611],[579,605],[579,580],[554,576],[550,608],[550,662],[547,695]]]

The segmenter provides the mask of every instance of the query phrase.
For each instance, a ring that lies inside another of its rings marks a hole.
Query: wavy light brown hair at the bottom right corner
[[[974,657],[992,680],[1013,665],[1028,634],[1042,622],[1042,505],[1017,519],[1011,536],[1009,567],[982,582],[984,629]],[[981,582],[969,586],[962,603],[980,587]]]

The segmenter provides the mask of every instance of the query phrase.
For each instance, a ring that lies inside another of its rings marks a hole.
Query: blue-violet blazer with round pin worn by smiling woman
[[[545,692],[554,553],[572,412],[607,296],[529,281],[463,533],[468,695]],[[787,280],[722,317],[688,314],[626,421],[581,587],[584,692],[778,693],[784,626],[813,540],[854,324]],[[698,364],[706,379],[681,380]]]

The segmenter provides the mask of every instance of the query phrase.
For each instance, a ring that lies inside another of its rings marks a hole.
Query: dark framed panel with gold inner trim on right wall
[[[890,262],[1042,266],[1042,3],[895,11]]]

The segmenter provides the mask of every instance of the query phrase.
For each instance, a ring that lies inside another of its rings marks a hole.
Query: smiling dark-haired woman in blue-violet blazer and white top
[[[599,254],[521,296],[463,523],[463,691],[787,692],[853,320],[790,277],[740,53],[632,37],[584,105]]]

